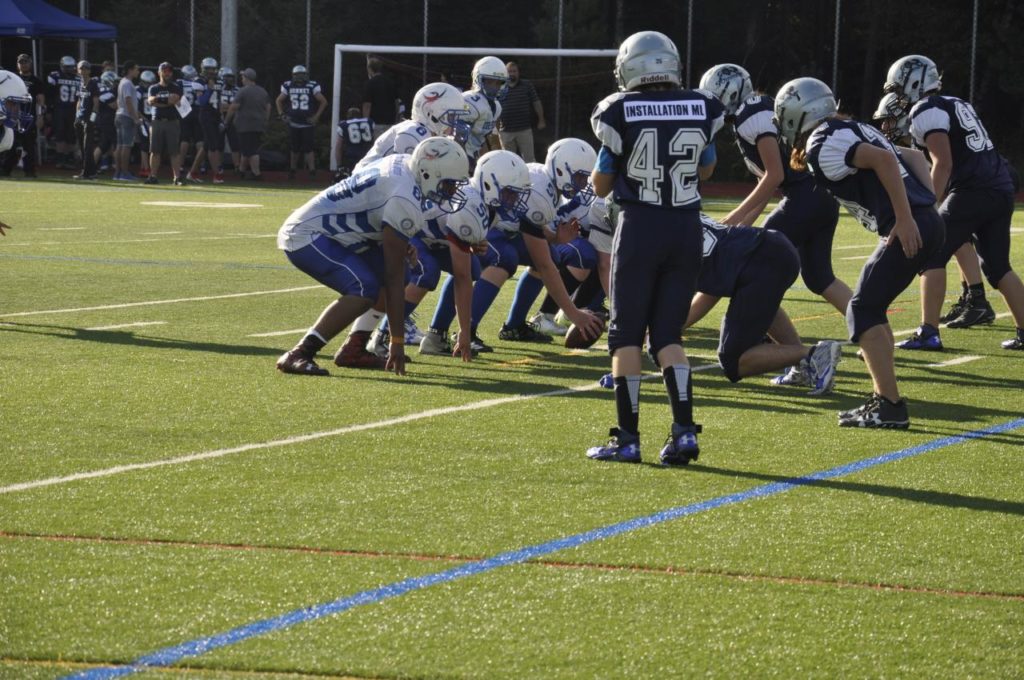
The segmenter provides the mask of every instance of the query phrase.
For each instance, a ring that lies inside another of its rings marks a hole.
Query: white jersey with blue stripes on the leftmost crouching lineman
[[[358,251],[380,243],[384,224],[406,239],[423,228],[423,195],[410,157],[392,155],[329,186],[289,215],[278,231],[278,248],[295,251],[321,236]]]

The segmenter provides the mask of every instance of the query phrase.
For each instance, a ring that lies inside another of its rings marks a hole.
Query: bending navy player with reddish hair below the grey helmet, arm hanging
[[[775,95],[775,121],[793,146],[790,163],[810,169],[868,231],[882,237],[860,272],[846,321],[871,374],[867,401],[839,415],[843,427],[906,429],[893,364],[889,304],[942,246],[944,226],[927,175],[919,177],[879,130],[837,117],[836,98],[814,78],[798,78]]]

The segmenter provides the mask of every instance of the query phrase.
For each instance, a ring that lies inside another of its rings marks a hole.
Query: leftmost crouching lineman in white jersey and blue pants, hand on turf
[[[388,318],[401,328],[409,240],[424,226],[423,206],[442,210],[464,204],[461,185],[469,174],[462,146],[431,137],[412,156],[392,155],[310,199],[278,232],[278,247],[296,267],[341,294],[309,332],[278,359],[278,370],[324,376],[316,352],[370,309],[384,293]],[[342,358],[339,351],[335,362]],[[343,364],[343,363],[342,363]],[[406,372],[403,338],[391,339],[386,364]]]

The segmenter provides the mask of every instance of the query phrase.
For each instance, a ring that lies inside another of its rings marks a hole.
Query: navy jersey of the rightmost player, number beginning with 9
[[[970,188],[1013,190],[1006,162],[995,152],[985,126],[969,101],[933,94],[910,110],[910,135],[915,145],[925,147],[928,135],[945,132],[953,167],[948,192]]]

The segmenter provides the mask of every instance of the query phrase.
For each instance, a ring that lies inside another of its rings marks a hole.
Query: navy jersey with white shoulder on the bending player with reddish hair
[[[854,151],[862,143],[896,155],[911,208],[935,204],[935,195],[913,176],[885,135],[870,125],[837,118],[825,121],[807,140],[807,166],[818,184],[823,184],[864,228],[885,237],[896,223],[896,214],[879,176],[853,166]]]

